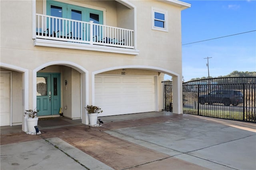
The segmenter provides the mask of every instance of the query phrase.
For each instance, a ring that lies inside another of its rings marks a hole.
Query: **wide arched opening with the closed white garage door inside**
[[[174,113],[181,113],[180,76],[151,66],[118,66],[92,72],[92,104],[103,107],[102,116],[160,111],[160,73],[174,77]]]

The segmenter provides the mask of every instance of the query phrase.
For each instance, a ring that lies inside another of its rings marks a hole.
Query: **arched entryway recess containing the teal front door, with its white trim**
[[[33,108],[40,117],[59,117],[61,111],[70,119],[88,124],[84,107],[88,104],[88,71],[67,62],[45,63],[33,70]]]

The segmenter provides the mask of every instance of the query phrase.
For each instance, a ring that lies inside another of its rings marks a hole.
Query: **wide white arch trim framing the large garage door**
[[[182,100],[182,92],[180,91],[181,88],[181,82],[182,80],[180,80],[180,75],[176,72],[173,72],[171,70],[167,70],[164,68],[160,68],[160,67],[155,67],[155,66],[144,66],[144,65],[124,65],[124,66],[116,66],[116,67],[111,67],[111,68],[104,68],[102,70],[97,70],[92,72],[92,77],[91,77],[91,91],[92,91],[92,104],[94,104],[95,102],[95,87],[94,87],[94,77],[95,74],[99,74],[101,72],[106,72],[106,71],[110,71],[110,70],[116,70],[116,69],[122,69],[122,68],[133,68],[133,69],[146,69],[146,70],[154,70],[157,72],[162,72],[164,74],[168,74],[170,76],[172,76],[173,78],[173,90],[174,90],[174,94],[173,94],[173,112],[174,113],[182,113],[182,104],[181,104],[181,100]]]

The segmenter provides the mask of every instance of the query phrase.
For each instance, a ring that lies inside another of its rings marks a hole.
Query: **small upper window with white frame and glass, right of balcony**
[[[152,29],[168,31],[168,11],[152,7]]]

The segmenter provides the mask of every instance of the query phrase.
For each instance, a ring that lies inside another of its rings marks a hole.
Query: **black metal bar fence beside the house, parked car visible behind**
[[[164,109],[172,111],[172,83],[163,82]],[[256,122],[256,77],[183,83],[183,113]]]

